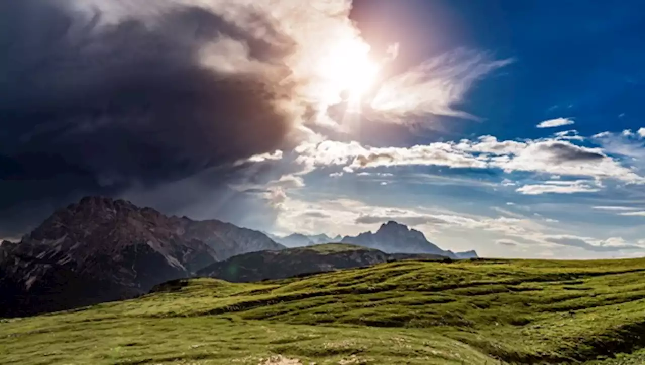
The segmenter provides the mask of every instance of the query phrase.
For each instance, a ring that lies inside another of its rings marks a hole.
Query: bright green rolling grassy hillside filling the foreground
[[[644,364],[646,260],[402,261],[176,280],[0,323],[3,364]],[[625,353],[617,359],[617,353]]]

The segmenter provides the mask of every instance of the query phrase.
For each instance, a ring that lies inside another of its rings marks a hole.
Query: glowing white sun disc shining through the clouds
[[[348,92],[350,102],[359,102],[375,84],[379,64],[370,58],[370,46],[352,39],[335,43],[320,58],[318,73],[333,89]]]

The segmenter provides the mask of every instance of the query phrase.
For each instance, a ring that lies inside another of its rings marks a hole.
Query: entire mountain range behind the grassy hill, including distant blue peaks
[[[474,251],[444,251],[392,221],[358,236],[271,237],[219,220],[166,216],[125,200],[83,198],[20,242],[0,244],[0,317],[136,297],[196,275],[255,281],[404,258],[477,257]]]

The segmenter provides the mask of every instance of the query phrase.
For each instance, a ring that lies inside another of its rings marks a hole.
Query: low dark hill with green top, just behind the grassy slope
[[[388,254],[348,244],[322,244],[296,247],[282,251],[260,251],[233,256],[198,271],[230,282],[255,282],[265,279],[320,273],[351,267],[370,266],[392,260],[441,260],[444,256]]]

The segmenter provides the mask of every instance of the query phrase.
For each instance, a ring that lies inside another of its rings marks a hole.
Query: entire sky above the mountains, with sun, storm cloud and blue
[[[0,3],[0,237],[81,196],[481,256],[646,252],[639,1]]]

